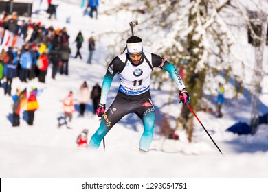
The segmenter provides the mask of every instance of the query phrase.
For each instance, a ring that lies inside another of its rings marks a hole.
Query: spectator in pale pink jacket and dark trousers
[[[80,116],[84,116],[87,101],[89,101],[89,88],[87,82],[83,82],[78,92],[78,102],[80,106]]]

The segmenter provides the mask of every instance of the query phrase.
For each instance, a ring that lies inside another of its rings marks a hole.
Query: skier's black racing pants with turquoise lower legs
[[[89,148],[98,149],[100,142],[104,136],[113,128],[115,123],[118,123],[122,117],[129,113],[135,113],[144,124],[144,132],[139,140],[139,149],[148,151],[150,143],[153,141],[153,131],[155,126],[155,109],[150,100],[150,92],[142,93],[141,95],[125,95],[118,92],[113,104],[104,113],[100,127],[93,134],[89,142]],[[120,142],[120,141],[119,141]],[[123,145],[123,144],[122,144]]]

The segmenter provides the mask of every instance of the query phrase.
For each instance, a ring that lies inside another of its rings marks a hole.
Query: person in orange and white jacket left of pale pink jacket
[[[71,128],[71,119],[73,117],[72,113],[76,111],[76,108],[74,108],[74,97],[73,92],[70,91],[68,96],[63,100],[63,111],[64,111],[64,121],[67,124],[67,128]],[[67,122],[67,118],[69,121]]]

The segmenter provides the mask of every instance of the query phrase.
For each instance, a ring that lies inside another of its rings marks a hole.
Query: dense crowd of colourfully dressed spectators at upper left
[[[7,47],[4,41],[9,40],[10,36],[5,37],[10,33],[13,43]],[[21,45],[14,43],[19,38],[23,39]],[[68,75],[71,49],[65,27],[46,27],[30,18],[19,19],[16,12],[12,15],[3,12],[0,15],[0,48],[0,86],[5,79],[5,95],[11,94],[12,80],[15,77],[19,77],[21,82],[38,78],[39,82],[45,83],[49,64],[52,65],[53,79],[59,69],[61,74]]]

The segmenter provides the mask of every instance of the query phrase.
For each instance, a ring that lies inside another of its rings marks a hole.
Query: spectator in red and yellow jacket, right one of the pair
[[[32,91],[27,99],[27,115],[28,115],[28,125],[34,124],[34,112],[39,108],[38,101],[36,99],[37,88],[32,87]]]

